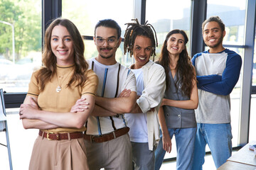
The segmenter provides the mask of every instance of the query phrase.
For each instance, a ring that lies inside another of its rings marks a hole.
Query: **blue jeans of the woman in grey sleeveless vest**
[[[191,169],[193,162],[193,146],[196,137],[196,128],[168,128],[168,132],[171,138],[175,135],[177,149],[176,169]],[[165,154],[166,151],[163,149],[163,141],[161,134],[159,145],[156,147],[155,151],[155,170],[160,169]]]

